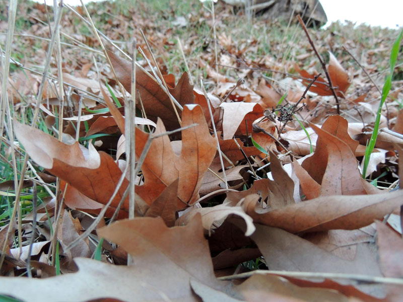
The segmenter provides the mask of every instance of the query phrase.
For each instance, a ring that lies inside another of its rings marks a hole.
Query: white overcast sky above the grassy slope
[[[44,0],[35,1],[44,2]],[[64,2],[80,5],[80,0],[64,0]],[[84,0],[84,3],[88,2],[90,0]],[[47,0],[46,3],[52,4],[53,0]],[[357,22],[357,25],[366,23],[394,29],[397,28],[396,25],[403,26],[403,0],[320,0],[320,3],[327,15],[328,24],[337,20],[350,20]]]

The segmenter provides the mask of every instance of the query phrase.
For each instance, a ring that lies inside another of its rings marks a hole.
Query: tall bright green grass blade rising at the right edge
[[[363,178],[365,178],[365,175],[367,173],[369,159],[370,159],[372,151],[374,150],[376,138],[378,137],[379,122],[380,122],[380,119],[381,119],[382,106],[383,106],[383,103],[385,102],[386,97],[387,97],[387,95],[388,95],[388,93],[390,91],[390,88],[392,86],[393,69],[394,69],[394,65],[395,65],[396,60],[397,60],[397,55],[398,55],[398,52],[399,52],[399,46],[400,46],[400,41],[401,41],[401,36],[402,35],[403,35],[403,29],[400,31],[400,34],[396,38],[396,41],[393,43],[393,47],[392,47],[392,50],[390,52],[390,74],[386,78],[385,84],[383,85],[382,98],[381,98],[381,101],[379,103],[378,112],[376,114],[374,131],[372,132],[372,135],[371,135],[371,138],[370,138],[369,143],[367,145],[367,148],[365,149],[364,166],[363,166],[363,171],[362,171],[362,177]]]

